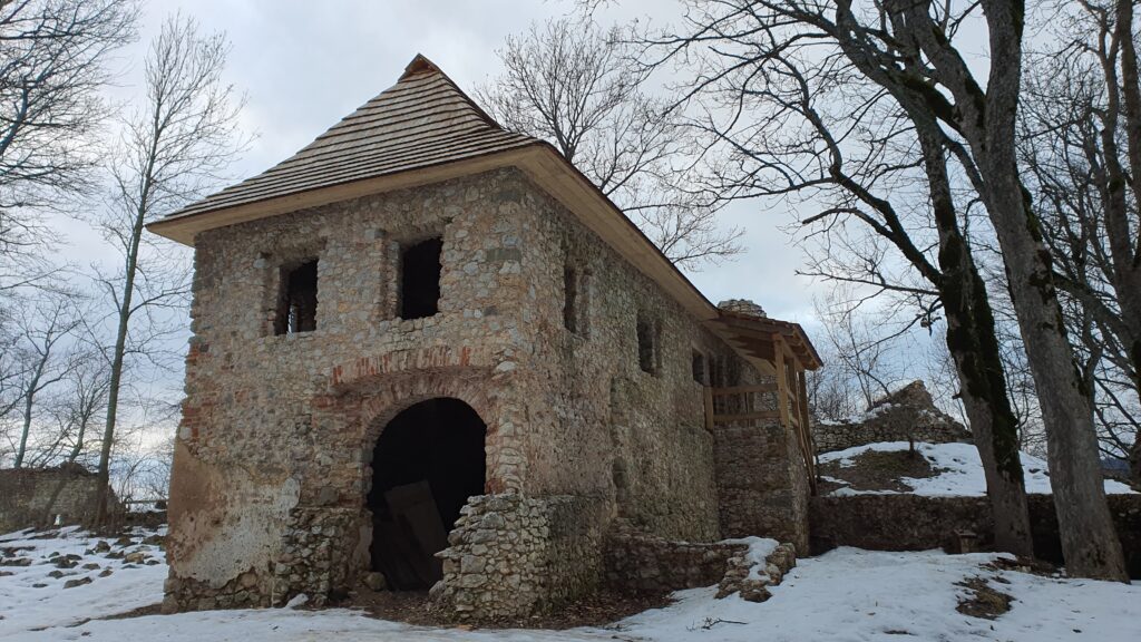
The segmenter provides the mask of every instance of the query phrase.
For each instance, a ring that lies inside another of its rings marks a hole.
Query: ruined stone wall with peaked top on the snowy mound
[[[971,442],[971,433],[939,410],[923,382],[912,382],[848,422],[814,422],[817,452],[883,441]]]

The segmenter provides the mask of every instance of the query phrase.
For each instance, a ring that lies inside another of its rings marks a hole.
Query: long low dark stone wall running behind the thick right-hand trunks
[[[1031,495],[1028,503],[1035,555],[1061,563],[1053,497]],[[1110,495],[1109,508],[1125,549],[1130,576],[1141,579],[1141,495]],[[955,545],[956,531],[977,533],[984,549],[994,540],[994,523],[985,497],[814,497],[809,519],[812,554],[836,546],[872,551],[948,548]]]

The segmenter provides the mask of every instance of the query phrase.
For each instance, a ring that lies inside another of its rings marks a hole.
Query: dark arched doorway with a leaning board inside
[[[483,495],[487,426],[458,399],[411,406],[385,426],[372,455],[372,569],[395,589],[429,588],[442,577],[460,508]]]

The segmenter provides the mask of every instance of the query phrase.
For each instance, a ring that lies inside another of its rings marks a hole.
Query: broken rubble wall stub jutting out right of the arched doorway
[[[461,620],[518,618],[594,589],[604,503],[588,497],[472,497],[439,553],[432,597]]]

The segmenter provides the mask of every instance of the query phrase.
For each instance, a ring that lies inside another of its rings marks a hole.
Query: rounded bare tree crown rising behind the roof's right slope
[[[555,145],[673,263],[695,268],[738,254],[742,232],[719,227],[707,199],[686,188],[691,136],[644,91],[628,47],[617,27],[586,18],[533,24],[508,38],[503,75],[477,94],[508,129]]]

